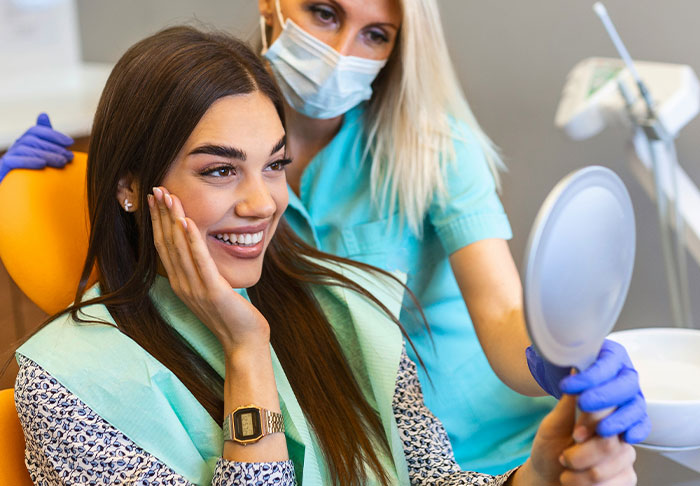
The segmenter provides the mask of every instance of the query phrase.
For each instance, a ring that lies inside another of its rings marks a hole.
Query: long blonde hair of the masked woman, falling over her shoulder
[[[371,160],[374,201],[389,214],[398,205],[402,222],[421,234],[430,204],[446,194],[455,137],[479,143],[497,188],[498,170],[504,165],[464,97],[436,1],[401,0],[401,4],[399,39],[374,84],[365,156]],[[456,131],[460,127],[471,136]]]

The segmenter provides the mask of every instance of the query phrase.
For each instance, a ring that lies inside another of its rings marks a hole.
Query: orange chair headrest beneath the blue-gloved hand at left
[[[76,153],[63,169],[13,170],[0,183],[0,258],[49,314],[73,301],[85,263],[86,169],[87,155]]]

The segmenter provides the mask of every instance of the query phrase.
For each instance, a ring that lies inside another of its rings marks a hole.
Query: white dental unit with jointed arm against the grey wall
[[[593,8],[621,59],[577,64],[555,124],[574,140],[608,125],[632,127],[631,169],[656,201],[673,322],[692,327],[685,248],[700,262],[700,191],[678,164],[674,140],[700,112],[700,82],[690,66],[633,62],[605,7],[598,2]]]

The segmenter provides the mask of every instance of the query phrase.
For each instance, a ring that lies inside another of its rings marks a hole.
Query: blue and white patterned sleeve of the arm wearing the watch
[[[49,373],[18,355],[15,404],[25,464],[36,485],[191,485],[93,412]],[[291,461],[241,463],[220,458],[212,486],[293,486]]]

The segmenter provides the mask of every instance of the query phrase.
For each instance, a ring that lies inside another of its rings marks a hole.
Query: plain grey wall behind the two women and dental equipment
[[[510,171],[503,201],[515,237],[518,264],[539,205],[570,171],[589,164],[612,168],[625,180],[637,214],[638,249],[620,328],[669,322],[655,208],[626,168],[622,129],[572,142],[554,128],[554,113],[566,74],[589,56],[615,56],[592,0],[439,0],[450,52],[467,96],[483,127],[503,150]],[[79,0],[86,60],[116,60],[132,42],[164,25],[193,15],[246,39],[257,38],[257,2],[215,0]],[[700,72],[700,2],[694,0],[607,0],[606,5],[632,56],[690,64]],[[700,181],[696,163],[700,122],[678,142],[681,164]],[[700,272],[691,263],[691,298]],[[694,314],[700,322],[700,299]],[[667,459],[640,453],[641,486],[698,486],[697,474]]]

